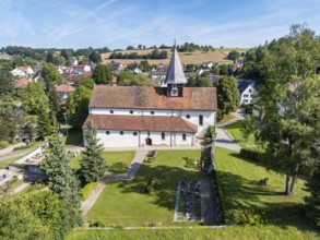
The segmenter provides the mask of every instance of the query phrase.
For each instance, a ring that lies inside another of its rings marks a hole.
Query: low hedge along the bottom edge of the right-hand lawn
[[[304,215],[306,215],[306,205],[304,204],[291,204],[270,208],[230,209],[225,212],[225,224],[257,225]]]

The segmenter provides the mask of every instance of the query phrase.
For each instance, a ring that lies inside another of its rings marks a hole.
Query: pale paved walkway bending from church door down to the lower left
[[[96,188],[92,191],[90,196],[82,202],[81,204],[81,209],[83,216],[87,214],[87,212],[93,207],[102,192],[104,191],[107,182],[109,181],[130,181],[134,179],[140,166],[143,163],[143,159],[145,155],[147,154],[146,149],[137,149],[135,151],[135,156],[133,160],[131,161],[128,170],[126,173],[122,175],[107,175],[104,179],[102,179],[99,182],[97,182]]]

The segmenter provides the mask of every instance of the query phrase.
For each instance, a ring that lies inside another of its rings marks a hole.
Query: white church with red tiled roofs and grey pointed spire
[[[104,147],[193,146],[215,124],[216,88],[185,87],[174,48],[162,87],[95,85],[88,116]]]

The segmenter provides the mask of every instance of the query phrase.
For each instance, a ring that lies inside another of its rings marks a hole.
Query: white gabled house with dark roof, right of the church
[[[239,105],[252,104],[253,95],[257,95],[254,80],[237,80],[238,89],[240,92]]]

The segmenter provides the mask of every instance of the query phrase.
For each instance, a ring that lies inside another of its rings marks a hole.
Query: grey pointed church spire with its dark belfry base
[[[183,96],[183,84],[187,83],[182,65],[179,59],[179,55],[176,48],[176,40],[174,46],[174,51],[168,69],[168,73],[165,79],[165,84],[167,85],[167,96],[168,97],[182,97]]]

